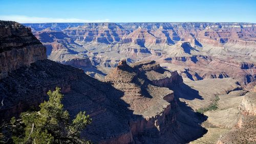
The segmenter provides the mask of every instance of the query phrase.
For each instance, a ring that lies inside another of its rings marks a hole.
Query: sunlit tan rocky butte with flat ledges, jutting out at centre
[[[130,121],[135,141],[168,143],[164,142],[164,139],[168,139],[173,143],[186,142],[176,138],[183,134],[184,131],[179,127],[183,127],[184,123],[178,122],[177,115],[180,115],[174,92],[161,87],[181,84],[183,81],[177,71],[165,70],[155,61],[139,61],[130,66],[125,60],[121,60],[118,66],[105,76],[105,81],[123,91],[121,99],[129,104],[134,114],[142,115],[143,119],[133,117]],[[195,130],[204,133],[203,129]],[[192,137],[187,135],[188,139]]]

